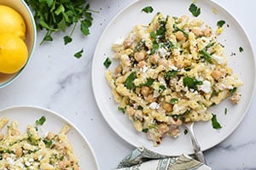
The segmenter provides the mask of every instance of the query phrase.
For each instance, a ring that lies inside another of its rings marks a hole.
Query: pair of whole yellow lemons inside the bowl
[[[0,5],[0,72],[20,71],[28,59],[26,23],[15,9]]]

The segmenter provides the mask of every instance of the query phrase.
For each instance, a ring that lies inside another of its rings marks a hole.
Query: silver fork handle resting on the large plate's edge
[[[197,139],[195,138],[194,122],[185,122],[183,123],[183,127],[185,127],[185,129],[187,129],[190,134],[190,138],[192,140],[193,148],[195,151],[195,159],[197,159],[198,161],[201,161],[204,164],[207,164],[204,154],[201,150],[201,147],[198,144]]]

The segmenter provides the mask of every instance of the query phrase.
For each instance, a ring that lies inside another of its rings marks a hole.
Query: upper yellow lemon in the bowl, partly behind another
[[[0,34],[5,33],[14,34],[25,40],[26,23],[15,9],[0,5]]]

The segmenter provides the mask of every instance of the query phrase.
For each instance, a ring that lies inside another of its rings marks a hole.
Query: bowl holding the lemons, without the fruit
[[[28,59],[26,61],[26,65],[27,65],[29,60],[32,57],[34,48],[36,46],[36,41],[37,41],[37,28],[33,18],[32,11],[23,0],[11,0],[11,1],[0,0],[0,4],[14,8],[18,13],[21,14],[21,16],[26,22],[25,42],[26,42],[26,47],[28,49]],[[16,72],[15,74],[0,73],[0,88],[3,88],[9,85],[9,83],[13,82],[17,77],[19,77],[21,72],[24,71],[26,65],[24,65],[24,67],[20,71]]]

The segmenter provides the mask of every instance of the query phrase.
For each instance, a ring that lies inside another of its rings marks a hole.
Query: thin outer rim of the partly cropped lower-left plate
[[[33,109],[33,110],[38,110],[38,111],[46,111],[49,114],[57,117],[58,119],[61,119],[61,121],[67,122],[71,127],[73,127],[73,129],[75,131],[77,131],[79,133],[79,135],[82,137],[82,139],[84,139],[84,142],[88,145],[88,148],[90,150],[91,155],[93,156],[93,160],[96,163],[96,169],[99,169],[99,164],[98,161],[96,159],[96,154],[91,146],[91,144],[89,143],[89,140],[84,136],[84,133],[82,133],[78,127],[76,127],[73,122],[69,121],[65,116],[62,116],[61,114],[57,113],[56,111],[52,111],[49,110],[47,108],[44,108],[42,106],[37,106],[37,105],[14,105],[14,106],[8,106],[5,107],[3,109],[0,110],[0,116],[2,114],[2,112],[6,112],[6,111],[10,111],[10,110],[15,110],[15,109]]]

